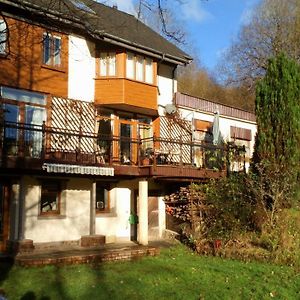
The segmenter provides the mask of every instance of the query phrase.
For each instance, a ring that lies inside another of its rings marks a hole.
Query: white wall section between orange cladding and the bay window
[[[95,44],[69,36],[68,97],[92,102],[95,97]]]

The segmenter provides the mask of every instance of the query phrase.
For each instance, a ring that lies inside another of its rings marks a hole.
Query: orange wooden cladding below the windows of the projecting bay
[[[124,78],[96,79],[95,103],[157,110],[157,87]]]

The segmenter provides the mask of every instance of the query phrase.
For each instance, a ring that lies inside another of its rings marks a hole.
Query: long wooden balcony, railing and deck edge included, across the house
[[[230,152],[230,155],[228,153]],[[228,157],[234,157],[228,163]],[[158,180],[206,180],[244,169],[238,147],[217,147],[161,137],[132,139],[45,125],[5,122],[1,126],[0,169],[42,170],[45,164],[110,167],[115,176]]]

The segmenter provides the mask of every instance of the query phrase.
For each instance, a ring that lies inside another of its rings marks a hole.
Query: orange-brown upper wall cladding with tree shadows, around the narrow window
[[[0,84],[67,97],[68,37],[62,39],[62,66],[43,66],[43,33],[47,30],[23,21],[5,18],[9,30],[8,55],[0,57]]]

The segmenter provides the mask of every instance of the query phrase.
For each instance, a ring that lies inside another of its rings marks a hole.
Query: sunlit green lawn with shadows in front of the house
[[[0,266],[8,299],[300,299],[287,266],[201,257],[184,246],[133,262],[96,266]]]

